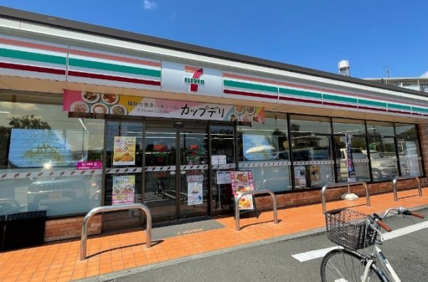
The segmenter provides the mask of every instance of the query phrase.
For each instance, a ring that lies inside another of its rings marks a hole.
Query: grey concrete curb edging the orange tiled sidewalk
[[[412,208],[412,210],[425,210],[425,209],[428,209],[428,204]],[[389,215],[388,217],[390,217],[390,216],[394,216],[394,215]],[[269,243],[277,243],[279,241],[287,241],[287,240],[298,239],[298,238],[312,237],[312,236],[316,236],[316,235],[321,235],[325,232],[326,232],[325,227],[316,228],[316,229],[311,229],[311,230],[307,230],[307,231],[303,231],[303,232],[297,232],[294,234],[283,235],[283,236],[274,237],[274,238],[270,238],[270,239],[264,239],[264,240],[256,241],[256,242],[252,242],[252,243],[245,243],[243,245],[234,246],[232,248],[214,250],[212,252],[205,252],[203,254],[194,254],[192,256],[182,257],[179,259],[172,259],[170,261],[163,261],[161,263],[156,263],[156,264],[152,264],[152,265],[138,266],[136,268],[130,268],[128,270],[119,270],[117,272],[110,272],[108,274],[101,274],[99,276],[92,276],[92,277],[80,279],[77,281],[81,281],[81,282],[114,281],[115,279],[120,279],[120,278],[123,278],[123,277],[131,275],[131,274],[137,274],[140,272],[145,272],[147,270],[162,268],[164,266],[176,265],[179,263],[184,263],[187,261],[194,261],[196,259],[203,259],[203,258],[207,258],[207,257],[214,257],[218,254],[225,254],[227,252],[234,252],[235,250],[243,250],[245,248],[252,248],[254,246],[262,246],[262,245],[266,245]]]

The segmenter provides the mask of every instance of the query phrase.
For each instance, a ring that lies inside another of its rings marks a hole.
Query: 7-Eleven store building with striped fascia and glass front
[[[425,177],[424,92],[9,8],[0,28],[0,215],[48,210],[46,241],[79,237],[100,205],[145,202],[154,221],[230,213],[231,170],[280,207],[320,202],[347,181],[345,133],[371,193]],[[96,220],[92,232],[141,224]]]

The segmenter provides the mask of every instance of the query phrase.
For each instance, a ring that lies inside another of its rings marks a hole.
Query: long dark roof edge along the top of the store
[[[414,94],[418,96],[428,97],[428,94],[422,91],[416,91],[406,89],[402,87],[396,87],[394,85],[385,85],[383,83],[377,83],[369,80],[363,80],[360,78],[353,78],[349,76],[342,76],[340,74],[334,74],[331,72],[324,72],[316,69],[309,69],[307,67],[299,67],[297,65],[289,65],[287,63],[280,63],[277,61],[271,61],[263,58],[256,58],[253,56],[247,56],[243,54],[236,54],[223,50],[216,50],[209,47],[202,47],[199,45],[193,45],[190,43],[182,43],[179,41],[172,41],[169,39],[161,39],[154,36],[138,34],[136,32],[129,32],[125,30],[118,30],[114,28],[107,28],[101,25],[94,25],[90,23],[82,23],[80,21],[72,21],[69,19],[62,19],[55,16],[49,16],[45,14],[38,14],[34,12],[27,12],[24,10],[17,10],[0,6],[0,17],[7,19],[29,21],[32,23],[39,23],[43,25],[50,25],[57,28],[63,28],[66,30],[73,30],[76,32],[85,32],[90,34],[96,34],[99,36],[107,36],[113,39],[120,39],[123,41],[132,41],[136,43],[142,43],[145,45],[152,45],[156,47],[163,47],[166,49],[179,50],[183,52],[190,52],[194,54],[200,54],[203,56],[210,56],[214,58],[222,58],[228,61],[236,61],[240,63],[248,63],[251,65],[259,65],[263,67],[270,67],[274,69],[281,69],[289,72],[297,72],[299,74],[307,74],[311,76],[318,76],[321,78],[329,78],[333,80],[339,80],[347,83],[356,83],[358,85],[365,85],[369,87],[376,87],[380,89],[387,89],[391,91],[404,92],[407,94]]]

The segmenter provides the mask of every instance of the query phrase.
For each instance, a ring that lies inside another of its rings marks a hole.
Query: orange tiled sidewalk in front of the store
[[[394,202],[392,193],[374,195],[370,197],[371,207],[365,206],[365,197],[354,202],[329,202],[327,210],[351,207],[363,213],[373,213],[391,206],[418,208],[428,204],[428,188],[423,188],[422,193],[423,197],[418,197],[417,190],[400,191],[398,202]],[[195,259],[254,244],[310,235],[325,228],[321,204],[278,210],[278,219],[279,224],[273,224],[272,211],[265,211],[258,219],[241,219],[241,231],[237,232],[234,217],[218,217],[215,220],[223,224],[223,228],[196,229],[185,235],[159,239],[153,241],[152,248],[145,248],[143,230],[97,235],[88,239],[89,258],[83,261],[79,260],[79,239],[2,252],[0,277],[2,281],[70,281],[94,276],[103,280],[121,276],[125,274],[123,270],[132,272],[137,267]]]

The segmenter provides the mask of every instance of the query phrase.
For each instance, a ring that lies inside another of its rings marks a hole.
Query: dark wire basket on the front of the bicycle
[[[367,215],[355,210],[330,210],[325,214],[327,238],[349,250],[367,248],[378,234],[367,226],[367,219]]]

